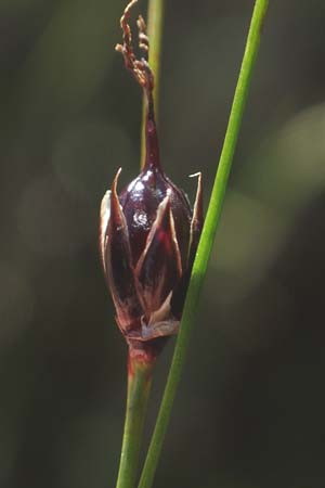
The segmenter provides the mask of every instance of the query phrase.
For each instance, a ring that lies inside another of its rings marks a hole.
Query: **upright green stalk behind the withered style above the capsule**
[[[155,76],[154,102],[156,120],[158,120],[158,95],[160,81],[160,65],[161,65],[161,36],[165,14],[165,0],[150,0],[147,12],[147,35],[150,38],[150,57],[148,63]],[[141,168],[144,165],[145,158],[145,114],[146,104],[143,101],[142,108],[142,129],[141,129]]]

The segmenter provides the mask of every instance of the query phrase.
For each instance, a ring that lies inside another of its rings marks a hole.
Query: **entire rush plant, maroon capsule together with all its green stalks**
[[[148,60],[150,38],[141,15],[138,28],[143,56],[138,59],[133,50],[129,18],[136,2],[132,0],[122,14],[120,25],[123,42],[117,44],[116,49],[122,54],[127,69],[144,94],[142,170],[119,194],[117,184],[120,169],[117,171],[110,191],[106,192],[102,202],[100,228],[103,269],[116,309],[116,322],[129,348],[127,412],[116,488],[135,486],[154,364],[168,337],[177,334],[174,355],[139,488],[151,488],[153,485],[220,220],[268,8],[268,0],[256,0],[203,227],[200,174],[195,175],[197,190],[192,209],[183,191],[164,172],[159,157],[154,89],[159,65],[162,0],[150,1],[150,33],[153,33],[154,53],[150,54]]]

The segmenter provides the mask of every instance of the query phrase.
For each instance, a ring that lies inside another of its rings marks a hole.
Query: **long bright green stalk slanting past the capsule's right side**
[[[199,242],[197,255],[193,266],[191,283],[186,295],[181,329],[178,335],[171,368],[165,388],[156,426],[143,467],[139,488],[151,488],[158,464],[161,447],[171,414],[171,409],[180,383],[181,373],[188,348],[188,341],[193,330],[197,304],[200,296],[204,278],[206,275],[217,228],[220,220],[222,203],[229,180],[233,155],[238,139],[240,123],[247,100],[252,68],[257,57],[261,27],[268,9],[268,0],[256,0],[251,24],[248,33],[246,49],[237,87],[233,100],[226,134],[218,166],[218,171],[211,193],[209,208]]]

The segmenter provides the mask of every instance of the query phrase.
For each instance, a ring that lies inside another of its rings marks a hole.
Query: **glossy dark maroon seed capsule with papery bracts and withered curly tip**
[[[120,24],[123,44],[116,47],[146,99],[146,155],[141,174],[119,195],[121,169],[101,206],[100,246],[116,321],[130,349],[154,358],[166,337],[176,334],[203,227],[202,176],[193,210],[186,195],[164,172],[154,116],[154,76],[147,61],[136,60],[126,8]],[[147,54],[143,18],[139,46]]]

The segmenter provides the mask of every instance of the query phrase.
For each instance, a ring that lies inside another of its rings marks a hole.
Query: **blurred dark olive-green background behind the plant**
[[[161,153],[192,201],[197,170],[209,198],[252,4],[166,0]],[[114,487],[126,345],[98,215],[116,169],[139,171],[123,7],[0,0],[1,488]],[[324,25],[323,0],[270,2],[155,488],[325,486]]]

